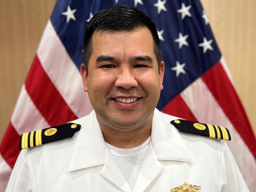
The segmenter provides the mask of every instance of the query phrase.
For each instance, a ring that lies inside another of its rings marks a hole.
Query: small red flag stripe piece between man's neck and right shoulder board
[[[180,95],[174,97],[164,108],[163,112],[172,116],[180,117],[189,121],[197,121],[196,117],[191,113],[187,104]]]

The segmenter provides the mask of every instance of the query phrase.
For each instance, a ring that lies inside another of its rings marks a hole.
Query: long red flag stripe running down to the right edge
[[[252,127],[221,63],[218,62],[201,78],[256,158],[256,139]]]

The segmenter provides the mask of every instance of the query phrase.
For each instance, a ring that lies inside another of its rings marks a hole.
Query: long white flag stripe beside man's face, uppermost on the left
[[[81,50],[82,53],[82,50]],[[92,105],[73,60],[70,58],[51,21],[44,30],[37,50],[38,59],[68,107],[78,117],[88,115]]]

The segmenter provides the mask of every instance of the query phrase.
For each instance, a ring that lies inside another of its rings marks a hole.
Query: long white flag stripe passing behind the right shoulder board
[[[248,188],[252,187],[252,183],[255,185],[256,161],[254,156],[233,124],[231,124],[204,81],[198,78],[181,92],[180,95],[199,122],[228,128],[231,135],[231,141],[227,142],[228,147],[236,159],[236,163]]]

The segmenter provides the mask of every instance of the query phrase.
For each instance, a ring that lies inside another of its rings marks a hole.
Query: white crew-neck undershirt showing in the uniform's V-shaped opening
[[[131,189],[136,182],[149,142],[150,137],[141,145],[130,149],[117,148],[106,143]]]

